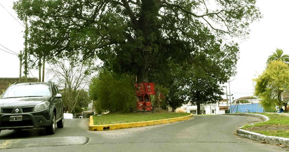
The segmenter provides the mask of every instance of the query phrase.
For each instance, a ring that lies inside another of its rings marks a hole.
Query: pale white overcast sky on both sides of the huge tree
[[[0,0],[0,3],[17,18],[12,9],[15,0]],[[276,48],[283,49],[284,54],[289,54],[288,45],[288,0],[257,0],[256,6],[260,8],[263,18],[250,24],[249,39],[238,41],[240,47],[240,59],[237,62],[236,76],[230,78],[227,92],[233,94],[234,99],[253,95],[253,78],[261,74],[266,65],[266,60]],[[19,53],[24,48],[23,31],[24,23],[18,23],[0,5],[0,44],[9,50]],[[19,59],[16,55],[4,52],[0,46],[0,78],[19,76]],[[22,72],[24,69],[22,69]],[[30,77],[38,77],[37,70],[29,72]],[[47,81],[49,77],[45,77]],[[224,91],[226,89],[224,88]],[[225,92],[226,93],[226,92]],[[224,95],[223,98],[226,98]]]

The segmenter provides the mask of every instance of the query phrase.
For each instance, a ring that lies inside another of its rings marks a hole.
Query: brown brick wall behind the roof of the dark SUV
[[[15,82],[18,82],[19,78],[0,78],[0,95],[2,90],[6,90],[9,85],[12,85]],[[27,78],[27,82],[37,82],[38,78]],[[24,82],[24,78],[21,79],[21,82]]]

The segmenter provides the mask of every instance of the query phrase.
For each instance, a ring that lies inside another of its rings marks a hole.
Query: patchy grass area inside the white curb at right
[[[289,138],[289,117],[269,113],[259,114],[269,117],[269,120],[253,125],[245,125],[242,129],[263,135]]]

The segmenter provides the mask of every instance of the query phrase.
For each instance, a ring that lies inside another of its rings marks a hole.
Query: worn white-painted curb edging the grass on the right
[[[251,116],[251,117],[261,118],[262,120],[265,120],[265,121],[269,120],[269,118],[267,116],[260,115],[260,114],[254,114],[254,113],[229,113],[226,115]],[[244,138],[257,140],[259,142],[264,141],[264,142],[270,143],[270,144],[282,144],[282,145],[289,146],[289,138],[266,136],[266,135],[262,135],[260,133],[255,133],[255,132],[244,130],[244,129],[242,129],[243,127],[244,126],[239,127],[237,129],[237,134],[244,137]]]

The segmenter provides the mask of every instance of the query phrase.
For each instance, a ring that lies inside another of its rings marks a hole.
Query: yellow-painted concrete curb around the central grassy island
[[[145,126],[151,126],[151,125],[168,124],[168,123],[172,123],[172,122],[189,120],[192,117],[193,117],[193,114],[191,113],[189,116],[162,119],[162,120],[152,120],[152,121],[144,121],[144,122],[131,122],[131,123],[123,123],[123,124],[93,125],[93,118],[92,118],[92,116],[90,116],[90,122],[89,122],[89,128],[88,129],[91,130],[91,131],[103,131],[103,130],[113,130],[113,129],[145,127]]]

